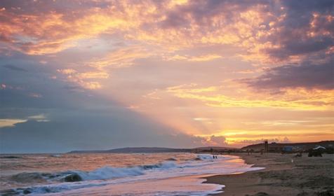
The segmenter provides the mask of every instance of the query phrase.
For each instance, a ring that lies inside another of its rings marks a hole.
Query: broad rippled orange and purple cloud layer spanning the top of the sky
[[[202,45],[233,45],[239,48],[239,57],[255,64],[300,62],[309,55],[321,59],[333,52],[330,0],[74,2],[71,7],[58,1],[4,2],[0,11],[4,48],[52,54],[102,37],[140,43],[150,52],[165,54]],[[20,6],[25,9],[13,9]],[[215,55],[175,54],[172,59],[208,61],[224,54]],[[110,60],[100,62],[104,63]]]

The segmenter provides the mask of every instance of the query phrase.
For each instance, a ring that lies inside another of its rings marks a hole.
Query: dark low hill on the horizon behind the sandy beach
[[[333,147],[334,146],[334,141],[318,141],[318,142],[303,142],[303,143],[271,143],[268,144],[269,151],[281,151],[283,147],[286,146],[291,146],[294,148],[299,148],[300,150],[307,151],[310,148],[314,148],[316,146],[323,146],[325,148],[328,147]],[[241,148],[241,150],[246,151],[246,150],[253,150],[253,151],[261,151],[262,149],[265,148],[265,144],[253,144],[249,146],[245,146]]]

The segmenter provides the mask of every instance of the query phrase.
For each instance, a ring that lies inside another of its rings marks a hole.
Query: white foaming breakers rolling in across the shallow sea
[[[128,182],[140,179],[166,178],[179,175],[195,175],[195,174],[215,174],[216,169],[211,171],[211,165],[220,165],[219,161],[215,162],[212,155],[197,155],[196,158],[202,161],[188,160],[186,162],[165,161],[154,165],[138,165],[135,167],[101,167],[91,172],[80,170],[72,170],[57,173],[20,173],[12,176],[12,180],[20,183],[41,182],[41,186],[30,186],[26,188],[15,188],[12,190],[2,191],[6,195],[6,191],[10,191],[9,195],[24,194],[46,194],[59,193],[66,190],[74,190],[79,188],[87,188],[91,186],[105,186],[114,183],[116,180],[120,182]],[[218,160],[225,160],[219,157]],[[176,170],[175,170],[176,169]],[[159,172],[159,173],[156,173]],[[156,176],[159,174],[158,176]],[[132,178],[133,176],[133,178]],[[134,178],[135,177],[135,178]],[[130,178],[130,179],[129,179]],[[113,180],[113,181],[106,181]],[[43,181],[47,181],[45,184]],[[36,183],[35,183],[36,184]],[[0,193],[1,195],[1,193]]]

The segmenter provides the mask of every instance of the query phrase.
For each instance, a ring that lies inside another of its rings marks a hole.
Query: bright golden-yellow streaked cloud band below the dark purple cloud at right
[[[272,92],[254,92],[245,88],[238,94],[233,95],[227,94],[226,90],[225,92],[221,90],[222,87],[220,86],[197,87],[196,85],[179,85],[168,87],[166,92],[181,99],[199,100],[206,106],[222,108],[273,108],[316,111],[330,110],[334,106],[334,90],[286,88],[279,94],[273,94]]]

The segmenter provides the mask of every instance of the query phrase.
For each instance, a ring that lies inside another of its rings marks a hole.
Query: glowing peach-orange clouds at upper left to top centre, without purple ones
[[[168,1],[158,8],[154,3],[116,3],[107,8],[89,8],[85,15],[72,17],[69,13],[51,12],[43,15],[17,15],[7,10],[0,12],[6,20],[1,22],[1,31],[11,47],[29,55],[56,53],[76,46],[80,39],[93,38],[100,34],[112,35],[121,32],[123,38],[159,45],[167,51],[180,50],[199,44],[236,44],[245,46],[245,38],[252,36],[268,15],[257,10],[245,10],[233,16],[227,25],[226,15],[215,15],[206,25],[197,24],[193,15],[185,15],[189,27],[163,29],[159,22],[166,20],[166,13],[187,6],[187,1]],[[70,19],[69,19],[70,18]],[[141,25],[149,28],[142,28]],[[201,30],[201,29],[203,29]],[[248,45],[250,47],[250,45]],[[253,47],[253,45],[252,45]],[[186,57],[189,61],[207,61],[220,55]],[[175,56],[175,58],[178,58]]]

